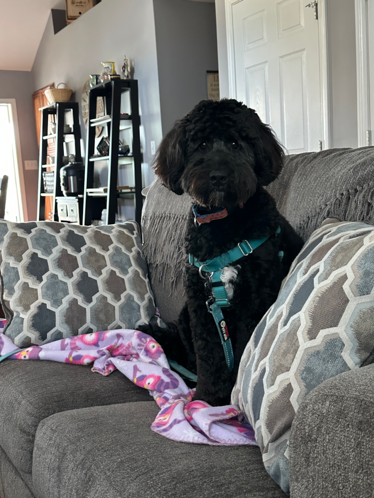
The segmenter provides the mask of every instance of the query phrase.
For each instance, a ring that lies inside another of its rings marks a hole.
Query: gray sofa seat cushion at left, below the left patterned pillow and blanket
[[[77,408],[153,401],[119,371],[107,377],[89,367],[52,361],[0,363],[0,446],[27,481],[41,420]]]

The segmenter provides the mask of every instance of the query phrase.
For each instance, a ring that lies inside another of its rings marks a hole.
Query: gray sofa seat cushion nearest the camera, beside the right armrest
[[[151,430],[156,403],[131,402],[44,419],[33,484],[48,498],[280,498],[254,446],[178,443]]]

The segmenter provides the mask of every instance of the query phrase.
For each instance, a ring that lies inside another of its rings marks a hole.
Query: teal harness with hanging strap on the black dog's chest
[[[277,228],[275,234],[280,233],[280,227]],[[223,317],[222,309],[231,306],[229,302],[224,282],[221,281],[222,270],[225,266],[238,261],[239,259],[249,256],[253,251],[260,247],[268,238],[263,237],[256,240],[243,240],[239,242],[233,249],[227,253],[221,254],[213,259],[207,261],[197,261],[197,259],[190,254],[189,262],[198,267],[200,277],[205,280],[205,288],[208,294],[206,305],[209,313],[212,314],[214,322],[223,346],[223,351],[226,359],[226,365],[231,372],[234,368],[234,351],[232,340],[227,329],[226,322]],[[279,253],[280,259],[283,257],[283,252]]]

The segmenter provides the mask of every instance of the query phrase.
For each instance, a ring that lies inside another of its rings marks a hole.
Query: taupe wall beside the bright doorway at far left
[[[39,157],[32,100],[33,87],[33,75],[30,71],[0,71],[0,98],[16,100],[23,163],[38,160]],[[23,214],[25,219],[36,220],[38,171],[25,170],[24,164],[22,168],[26,190]]]

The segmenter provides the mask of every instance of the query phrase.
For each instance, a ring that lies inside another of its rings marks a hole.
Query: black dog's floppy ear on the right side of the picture
[[[254,144],[255,166],[254,172],[259,185],[268,185],[282,170],[284,151],[278,142],[274,132],[267,124],[264,124],[257,114],[252,114],[258,120],[257,139]]]

